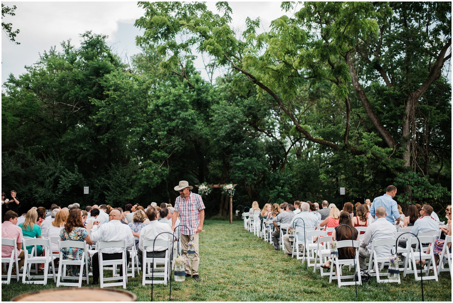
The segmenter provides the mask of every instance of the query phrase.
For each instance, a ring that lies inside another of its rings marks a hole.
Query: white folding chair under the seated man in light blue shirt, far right
[[[431,243],[431,247],[433,246],[434,241],[436,240],[435,236],[423,236],[418,237],[421,243]],[[412,248],[412,244],[415,244],[415,249]],[[409,237],[409,240],[406,243],[407,252],[403,252],[401,255],[405,257],[405,265],[404,265],[404,273],[403,277],[406,277],[407,274],[414,274],[416,280],[419,280],[419,270],[417,270],[417,266],[415,265],[416,260],[420,260],[420,251],[419,251],[419,241],[416,237]],[[426,275],[423,277],[424,280],[435,279],[438,281],[437,277],[437,269],[436,264],[434,262],[434,252],[431,249],[429,254],[421,252],[421,259],[429,260],[426,266]],[[433,265],[434,276],[429,276],[429,270],[431,269],[431,264]],[[413,270],[410,270],[410,267],[413,266]],[[422,270],[423,273],[423,270]]]

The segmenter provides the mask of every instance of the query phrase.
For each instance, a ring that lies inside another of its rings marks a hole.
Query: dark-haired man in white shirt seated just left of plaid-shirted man
[[[148,208],[147,210],[147,215],[149,218],[149,224],[146,225],[145,227],[142,228],[140,232],[140,241],[139,241],[139,248],[138,248],[138,258],[139,261],[142,265],[142,270],[143,270],[143,250],[144,250],[144,245],[143,245],[143,240],[154,240],[156,237],[158,240],[167,240],[171,238],[172,236],[169,235],[168,233],[163,233],[159,235],[161,232],[169,232],[170,234],[173,234],[173,231],[171,229],[171,226],[169,226],[167,223],[160,223],[157,220],[157,206]],[[157,236],[159,235],[159,236]],[[154,246],[154,258],[164,258],[165,257],[165,251],[166,248],[163,246]],[[169,254],[172,253],[172,250],[169,251]],[[147,258],[152,258],[153,257],[153,246],[147,246],[146,247],[146,257]]]

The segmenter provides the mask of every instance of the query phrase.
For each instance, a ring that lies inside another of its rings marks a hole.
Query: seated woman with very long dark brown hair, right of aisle
[[[350,202],[348,202],[350,203]],[[352,205],[352,203],[351,203]],[[340,213],[340,219],[338,221],[339,225],[346,224],[347,226],[338,226],[335,227],[335,230],[332,232],[332,240],[335,241],[343,241],[343,240],[357,240],[359,241],[359,232],[357,229],[354,228],[351,221],[351,216],[349,212],[342,211]],[[352,230],[352,237],[351,237],[351,230]],[[355,249],[353,247],[341,247],[338,248],[338,259],[354,259],[356,256]],[[329,259],[326,263],[321,265],[322,268],[330,268],[331,259]],[[335,273],[337,275],[337,273]]]

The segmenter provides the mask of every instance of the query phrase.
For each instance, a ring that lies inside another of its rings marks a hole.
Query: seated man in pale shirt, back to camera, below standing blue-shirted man
[[[366,210],[366,206],[361,204]],[[359,212],[359,208],[357,208],[357,212]],[[386,219],[387,213],[386,208],[379,206],[376,208],[376,221],[369,225],[366,229],[365,236],[363,237],[362,243],[359,248],[359,263],[360,263],[360,270],[366,272],[366,259],[370,259],[371,254],[371,246],[373,246],[373,240],[380,240],[380,239],[388,239],[393,238],[396,239],[396,227],[395,224],[390,223]],[[357,217],[356,217],[357,218]],[[375,251],[378,258],[386,257],[391,255],[391,249],[393,246],[391,245],[384,245],[384,246],[376,246]],[[384,263],[378,263],[379,271],[381,271]]]

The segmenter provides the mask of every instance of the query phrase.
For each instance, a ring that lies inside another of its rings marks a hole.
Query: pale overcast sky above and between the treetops
[[[140,30],[134,27],[135,19],[144,14],[137,2],[3,2],[4,5],[17,6],[16,15],[7,16],[2,22],[11,22],[13,29],[20,29],[16,37],[19,45],[9,42],[2,32],[2,84],[10,73],[19,76],[25,72],[24,66],[32,65],[39,59],[39,53],[71,39],[76,47],[80,46],[80,33],[91,30],[93,33],[108,35],[107,43],[121,57],[140,52],[135,46],[135,37]],[[245,19],[260,17],[263,30],[268,30],[270,22],[285,14],[280,2],[229,2],[232,14],[232,27],[244,30]],[[207,2],[208,9],[217,12],[215,2]],[[195,62],[202,70],[201,57]]]

